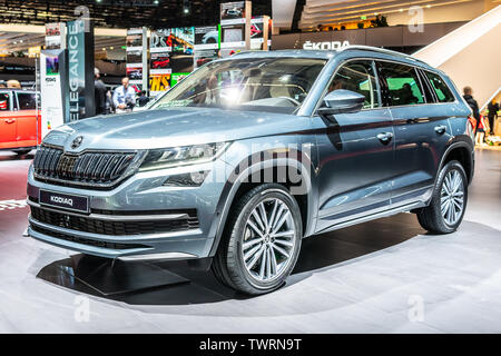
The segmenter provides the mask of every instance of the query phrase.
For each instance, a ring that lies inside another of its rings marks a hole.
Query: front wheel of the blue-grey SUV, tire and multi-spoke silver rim
[[[279,288],[301,249],[303,225],[296,199],[284,186],[265,184],[245,194],[232,210],[213,260],[215,276],[249,295]]]

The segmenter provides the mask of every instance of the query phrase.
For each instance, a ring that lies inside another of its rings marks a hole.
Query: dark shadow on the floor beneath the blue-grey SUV
[[[286,287],[321,268],[335,268],[424,233],[413,214],[400,214],[306,238]],[[188,268],[186,261],[112,264],[106,258],[79,254],[45,266],[37,277],[75,291],[130,305],[187,305],[249,298],[219,284],[212,271]]]

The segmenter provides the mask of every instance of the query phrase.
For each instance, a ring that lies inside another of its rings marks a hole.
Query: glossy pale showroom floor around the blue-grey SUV
[[[99,296],[62,271],[73,253],[22,236],[31,159],[0,152],[0,333],[501,332],[499,150],[477,152],[459,231],[401,214],[324,234],[284,288],[254,298],[180,263],[161,267],[190,283]]]

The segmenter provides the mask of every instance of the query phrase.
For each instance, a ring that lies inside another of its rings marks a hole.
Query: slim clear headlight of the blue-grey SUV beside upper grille
[[[209,162],[228,146],[229,142],[217,142],[149,150],[139,171]]]

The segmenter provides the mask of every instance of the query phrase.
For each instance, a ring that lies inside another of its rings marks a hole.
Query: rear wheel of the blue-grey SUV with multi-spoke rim
[[[458,186],[455,186],[455,182]],[[450,189],[451,187],[452,189]],[[455,192],[454,187],[456,187]],[[450,195],[448,194],[448,188],[453,191],[452,198],[449,198]],[[460,202],[461,194],[462,202]],[[433,234],[453,233],[463,220],[466,202],[466,174],[459,161],[451,160],[439,174],[436,184],[433,187],[433,196],[430,205],[418,211],[418,221],[424,229]]]

